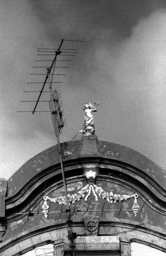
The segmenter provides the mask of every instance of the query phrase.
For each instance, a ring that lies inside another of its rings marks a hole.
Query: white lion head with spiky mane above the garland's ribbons
[[[87,178],[88,183],[94,183],[98,174],[99,170],[95,164],[87,164],[84,166],[83,175]]]

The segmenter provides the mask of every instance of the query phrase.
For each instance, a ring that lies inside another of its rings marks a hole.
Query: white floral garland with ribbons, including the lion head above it
[[[88,184],[85,187],[81,188],[81,190],[78,191],[77,193],[71,194],[71,195],[68,194],[69,205],[79,201],[81,198],[85,198],[84,201],[87,201],[91,192],[95,196],[95,201],[97,202],[98,202],[98,196],[102,197],[103,199],[106,199],[109,203],[121,202],[133,197],[134,204],[132,209],[136,217],[136,214],[138,213],[138,210],[139,210],[139,205],[136,200],[138,198],[138,194],[125,195],[125,194],[114,194],[112,191],[111,192],[104,191],[102,187],[99,187],[94,183],[96,176],[99,174],[98,170],[99,170],[98,167],[94,164],[87,164],[84,166],[83,175],[87,178]],[[49,206],[47,204],[48,200],[52,203],[66,204],[65,196],[50,198],[49,196],[46,195],[43,197],[43,199],[44,199],[44,204],[42,208],[43,208],[43,213],[45,218],[47,218],[48,212],[49,212]]]

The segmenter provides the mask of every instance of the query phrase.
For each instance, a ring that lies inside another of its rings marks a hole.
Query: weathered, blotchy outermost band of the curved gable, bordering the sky
[[[90,143],[91,141],[89,140],[89,144]],[[64,142],[61,143],[61,148],[64,153],[64,165],[66,165],[67,162],[69,162],[70,165],[70,163],[75,161],[77,161],[78,164],[79,159],[92,159],[92,155],[84,156],[81,154],[82,141]],[[98,161],[98,159],[102,158],[108,159],[108,162],[111,160],[112,162],[116,161],[122,163],[122,165],[126,167],[127,165],[133,166],[133,168],[140,170],[141,174],[144,174],[142,175],[143,178],[146,176],[148,179],[149,177],[160,190],[166,191],[166,171],[145,156],[125,146],[105,141],[97,141],[97,149],[99,154],[93,156],[94,161]],[[60,164],[57,145],[34,156],[9,178],[7,189],[8,198],[16,195],[26,184],[31,183],[33,179],[36,180],[36,177],[39,175],[43,175],[44,170],[58,165]]]

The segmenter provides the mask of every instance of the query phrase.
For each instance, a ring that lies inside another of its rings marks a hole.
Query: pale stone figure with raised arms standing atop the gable
[[[92,112],[96,112],[96,106],[99,105],[98,102],[94,102],[93,105],[91,103],[84,103],[82,105],[82,108],[85,113],[85,122],[83,124],[82,129],[79,131],[84,136],[89,136],[95,133],[95,127],[94,127],[94,117],[92,115]]]

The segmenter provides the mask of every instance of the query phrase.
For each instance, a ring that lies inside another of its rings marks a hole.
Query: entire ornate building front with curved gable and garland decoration
[[[0,256],[166,255],[166,171],[95,134],[0,179]]]

